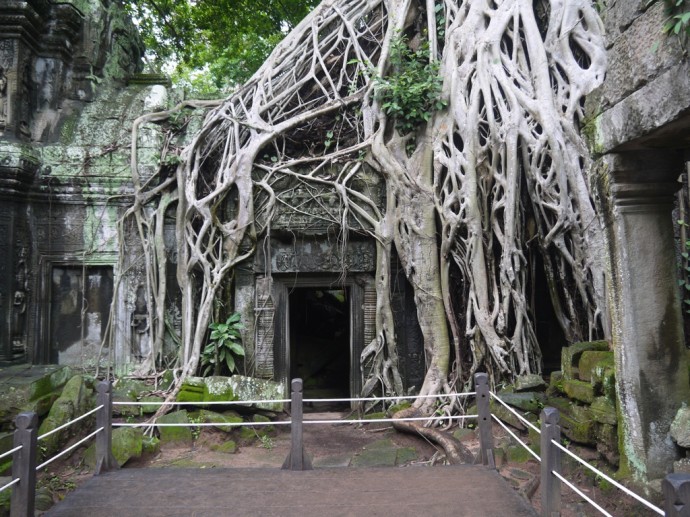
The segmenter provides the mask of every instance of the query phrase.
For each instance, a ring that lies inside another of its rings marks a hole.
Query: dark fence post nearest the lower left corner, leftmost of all
[[[38,416],[34,412],[20,413],[14,419],[14,447],[12,479],[19,483],[12,487],[10,517],[33,517],[36,501],[36,449]]]

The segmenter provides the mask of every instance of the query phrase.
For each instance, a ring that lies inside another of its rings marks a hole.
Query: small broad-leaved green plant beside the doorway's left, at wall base
[[[221,368],[225,366],[229,373],[237,369],[235,358],[244,356],[242,337],[240,330],[244,326],[240,323],[239,313],[232,314],[225,323],[211,323],[210,341],[201,352],[201,367],[203,375],[213,371],[214,375],[220,375]]]

